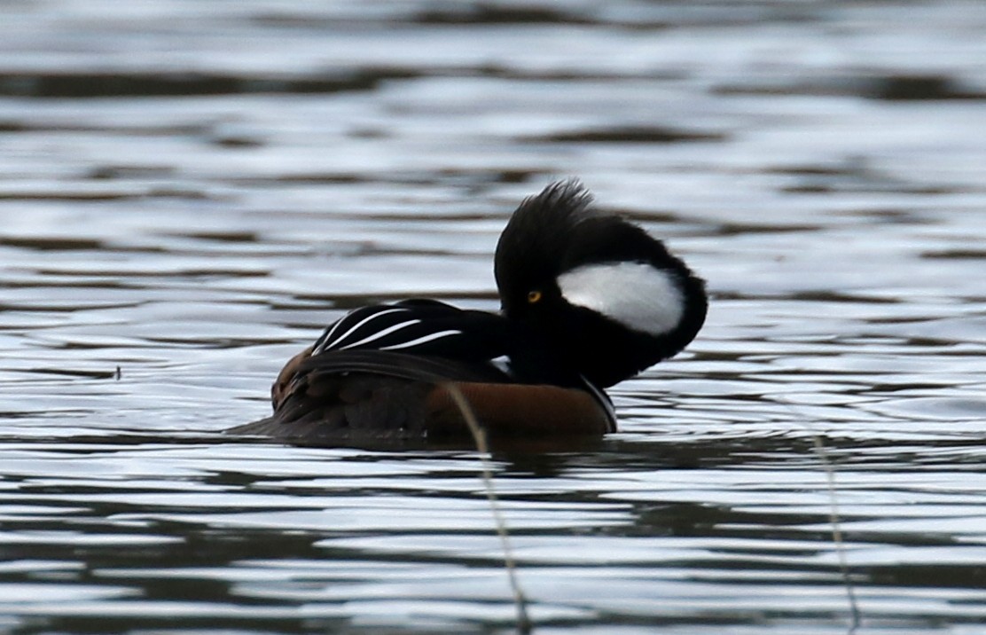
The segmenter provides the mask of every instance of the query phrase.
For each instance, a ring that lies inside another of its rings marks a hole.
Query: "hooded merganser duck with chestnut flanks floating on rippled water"
[[[469,434],[454,385],[494,437],[616,429],[607,388],[666,359],[705,320],[705,285],[575,180],[521,203],[496,247],[502,312],[434,300],[364,307],[281,371],[274,413],[235,428],[344,443]]]

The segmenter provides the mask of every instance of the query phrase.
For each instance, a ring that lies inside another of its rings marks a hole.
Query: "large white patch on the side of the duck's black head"
[[[558,276],[558,288],[569,304],[650,335],[669,333],[684,314],[674,275],[646,262],[586,264]]]

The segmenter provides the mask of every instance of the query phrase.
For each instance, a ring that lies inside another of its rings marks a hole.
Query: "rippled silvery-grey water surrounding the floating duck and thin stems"
[[[536,633],[986,632],[986,4],[0,6],[0,629],[510,632],[474,452],[220,435],[582,176],[714,304],[502,452]],[[116,369],[119,368],[119,377]]]

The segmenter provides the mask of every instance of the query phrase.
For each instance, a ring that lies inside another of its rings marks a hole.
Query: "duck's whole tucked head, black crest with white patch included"
[[[599,387],[676,354],[705,321],[704,282],[576,180],[521,203],[494,272],[503,314]]]

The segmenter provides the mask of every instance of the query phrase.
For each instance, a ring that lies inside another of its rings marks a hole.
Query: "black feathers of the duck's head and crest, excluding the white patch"
[[[684,310],[669,332],[632,331],[569,304],[558,278],[588,265],[643,263],[668,275]],[[704,283],[642,228],[599,210],[577,180],[552,183],[521,203],[504,229],[494,262],[504,315],[549,342],[558,359],[598,386],[611,386],[674,355],[705,320]]]

